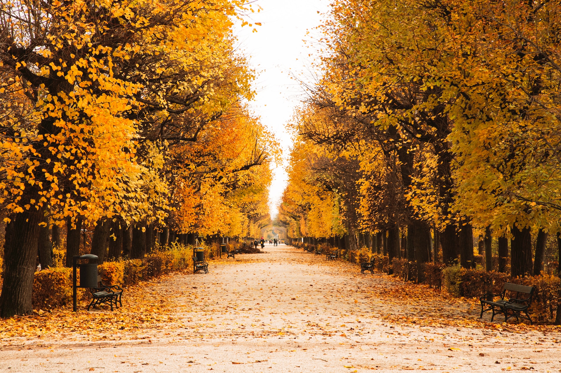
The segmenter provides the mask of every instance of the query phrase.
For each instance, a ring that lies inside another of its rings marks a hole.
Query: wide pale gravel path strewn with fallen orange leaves
[[[556,326],[481,321],[474,301],[265,250],[127,288],[114,312],[1,320],[0,371],[561,371]]]

